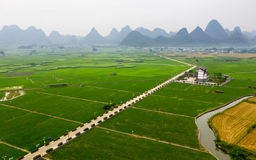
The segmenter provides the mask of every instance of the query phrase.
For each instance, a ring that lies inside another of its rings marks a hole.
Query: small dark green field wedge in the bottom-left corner
[[[5,159],[10,159],[13,157],[13,159],[17,159],[20,156],[25,156],[26,154],[28,154],[27,152],[24,152],[20,149],[8,146],[4,143],[0,143],[0,156],[6,156]]]

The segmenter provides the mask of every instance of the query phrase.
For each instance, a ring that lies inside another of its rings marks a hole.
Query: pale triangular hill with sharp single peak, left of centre
[[[93,27],[91,31],[79,41],[81,44],[104,44],[106,39]]]

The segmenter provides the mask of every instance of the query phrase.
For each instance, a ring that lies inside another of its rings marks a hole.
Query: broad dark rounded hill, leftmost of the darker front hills
[[[139,31],[130,32],[123,41],[121,46],[148,46],[154,45],[154,40],[148,36],[142,35]]]

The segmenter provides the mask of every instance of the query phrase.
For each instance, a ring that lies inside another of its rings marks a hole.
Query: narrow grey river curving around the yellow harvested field
[[[249,98],[249,97],[253,97],[253,96],[246,96],[246,97],[240,98],[239,100],[235,100],[222,108],[205,113],[202,116],[199,116],[198,118],[196,118],[196,124],[197,124],[197,126],[199,128],[199,132],[200,132],[199,139],[200,139],[202,145],[209,152],[211,152],[214,156],[216,156],[219,160],[229,160],[230,157],[228,156],[228,154],[226,152],[223,152],[220,148],[216,147],[215,142],[213,141],[213,140],[215,140],[214,132],[208,126],[207,121],[211,116],[215,115],[216,113],[222,112],[223,110],[230,108],[230,107],[236,105],[238,102],[240,102],[246,98]]]

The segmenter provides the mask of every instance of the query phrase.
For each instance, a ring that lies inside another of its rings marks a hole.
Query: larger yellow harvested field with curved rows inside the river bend
[[[256,123],[256,104],[243,102],[216,116],[212,124],[220,134],[220,140],[235,143],[247,130]]]

